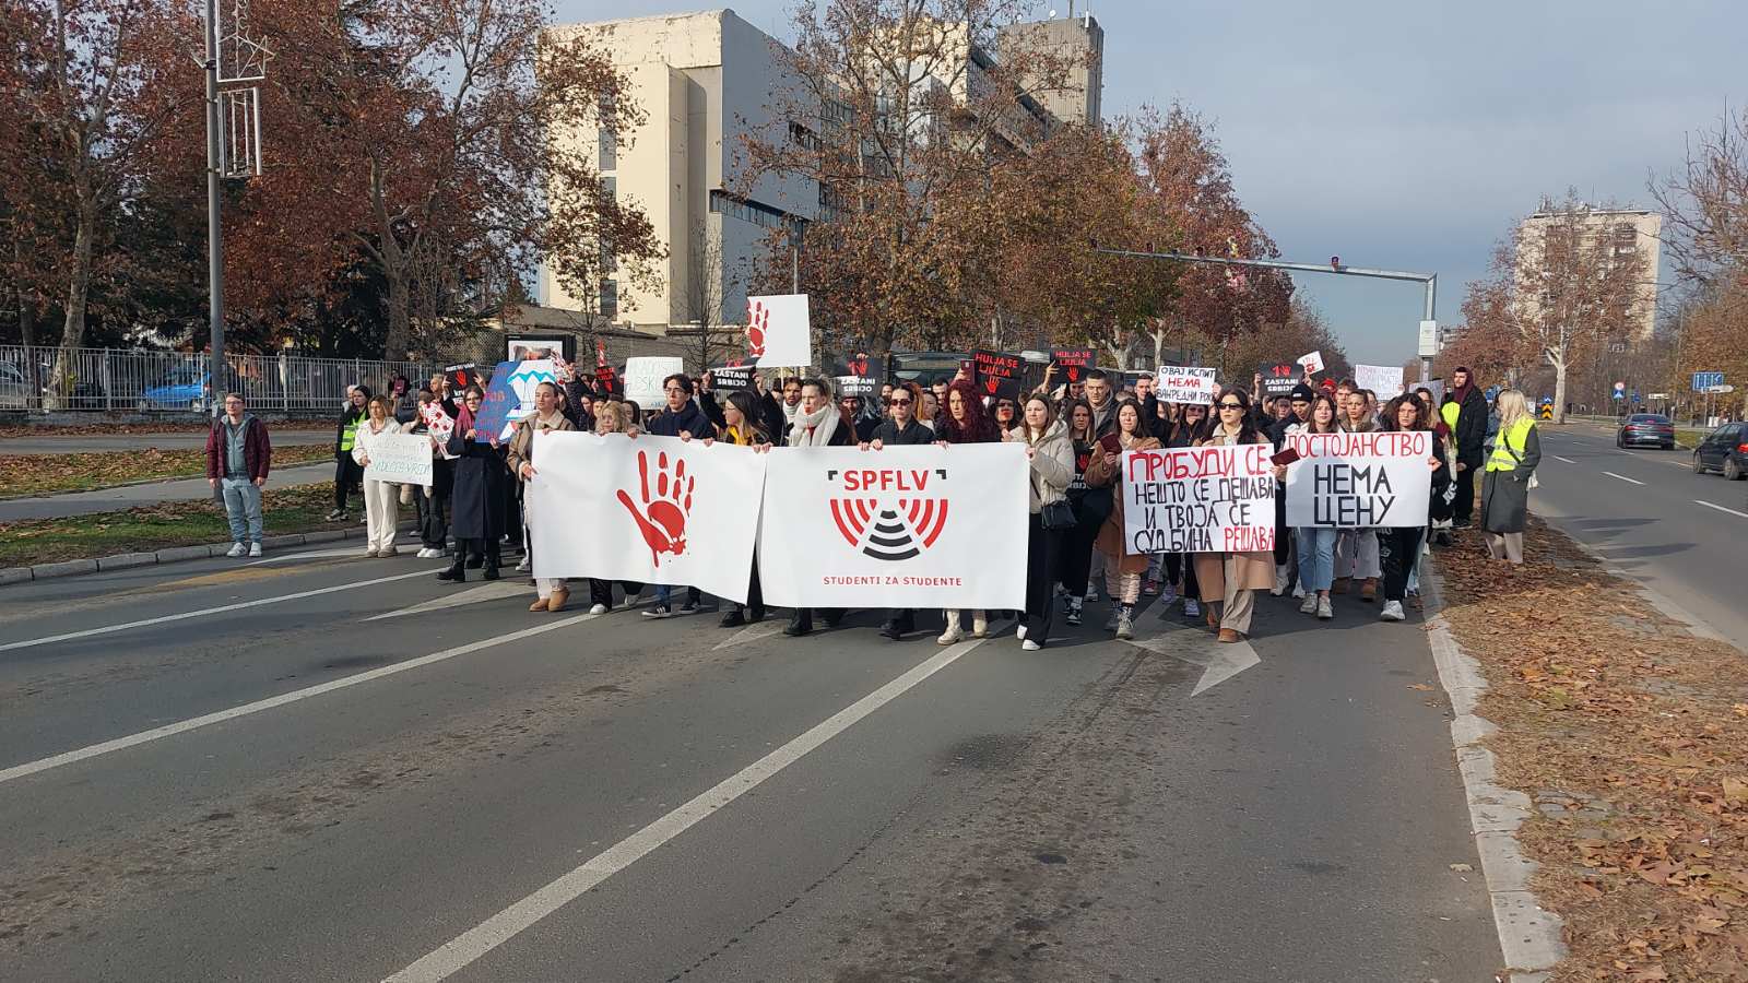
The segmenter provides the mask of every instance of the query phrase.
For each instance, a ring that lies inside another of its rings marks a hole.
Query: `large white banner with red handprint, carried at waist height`
[[[537,432],[535,577],[694,586],[746,602],[769,455],[676,437]]]

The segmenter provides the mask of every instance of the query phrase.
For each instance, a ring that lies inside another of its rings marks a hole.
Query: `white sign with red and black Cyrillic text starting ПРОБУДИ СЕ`
[[[1124,451],[1127,553],[1274,549],[1271,444]]]

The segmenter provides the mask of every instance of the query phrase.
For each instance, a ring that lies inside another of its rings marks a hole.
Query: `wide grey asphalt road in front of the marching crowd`
[[[1038,652],[1005,624],[942,649],[877,612],[804,640],[530,614],[524,581],[437,568],[348,547],[5,588],[0,980],[1500,966],[1418,617],[1264,596],[1253,649],[1159,609],[1143,647],[1098,605]]]

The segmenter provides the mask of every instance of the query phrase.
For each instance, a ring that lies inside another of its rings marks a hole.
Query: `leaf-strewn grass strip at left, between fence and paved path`
[[[332,444],[273,448],[273,467],[334,460]],[[0,455],[0,498],[56,492],[94,492],[135,481],[173,481],[206,474],[205,448],[101,451],[68,455]]]

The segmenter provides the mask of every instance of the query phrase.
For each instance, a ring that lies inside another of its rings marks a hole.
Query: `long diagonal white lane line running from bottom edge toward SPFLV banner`
[[[427,953],[413,966],[390,976],[385,983],[435,983],[460,973],[468,964],[510,941],[530,925],[558,911],[565,904],[579,899],[594,885],[629,868],[662,843],[680,836],[713,812],[727,806],[734,799],[759,787],[783,768],[801,761],[808,752],[818,749],[834,736],[844,733],[858,721],[904,696],[916,684],[953,665],[960,656],[970,652],[988,638],[972,638],[956,645],[947,645],[939,654],[930,656],[916,668],[832,714],[809,731],[773,750],[771,754],[729,775],[715,787],[701,792],[692,801],[657,819],[656,822],[614,843],[601,854],[586,861],[580,868],[559,876],[552,883],[535,890],[528,897],[486,918],[479,925],[449,939],[437,950]]]

